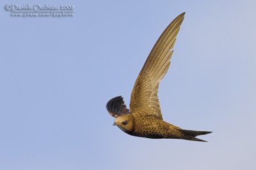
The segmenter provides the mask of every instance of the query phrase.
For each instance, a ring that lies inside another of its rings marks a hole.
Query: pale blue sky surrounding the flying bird
[[[10,17],[5,4],[75,6]],[[256,169],[256,1],[1,1],[0,169]],[[163,118],[208,143],[129,136],[105,105],[131,90],[186,11],[161,81]]]

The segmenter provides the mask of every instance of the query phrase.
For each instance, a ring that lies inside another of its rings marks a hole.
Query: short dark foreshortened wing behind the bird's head
[[[109,115],[112,117],[119,117],[120,115],[129,114],[129,109],[126,108],[124,104],[124,99],[122,96],[114,97],[110,99],[106,104]]]

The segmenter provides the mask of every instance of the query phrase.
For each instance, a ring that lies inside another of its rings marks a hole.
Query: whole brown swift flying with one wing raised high
[[[115,118],[113,125],[127,134],[153,139],[204,141],[195,137],[211,133],[185,130],[164,122],[159,106],[159,82],[170,66],[172,48],[184,15],[185,13],[181,13],[166,27],[148,55],[132,89],[130,110],[126,108],[122,96],[114,97],[106,104],[109,114]]]

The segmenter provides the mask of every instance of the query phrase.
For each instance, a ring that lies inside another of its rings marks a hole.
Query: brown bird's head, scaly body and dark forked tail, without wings
[[[118,97],[118,99],[122,99]],[[124,125],[124,122],[127,124]],[[195,136],[208,134],[207,131],[189,131],[181,129],[175,125],[164,122],[163,120],[143,115],[140,113],[131,113],[117,117],[113,125],[118,127],[127,134],[143,138],[152,139],[187,139],[192,141],[204,141],[197,139]]]

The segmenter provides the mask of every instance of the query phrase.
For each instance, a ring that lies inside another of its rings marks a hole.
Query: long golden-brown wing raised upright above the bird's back
[[[148,55],[132,90],[131,113],[147,114],[163,119],[157,97],[159,82],[170,66],[172,48],[184,15],[185,13],[181,13],[166,27]]]

